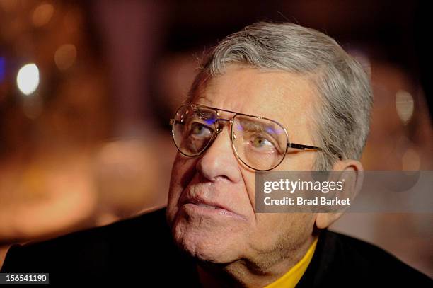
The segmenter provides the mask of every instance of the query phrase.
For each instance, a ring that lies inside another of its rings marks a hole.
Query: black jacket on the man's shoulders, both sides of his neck
[[[200,286],[195,263],[171,240],[166,209],[49,241],[12,246],[1,272],[49,272],[50,283]],[[297,287],[378,286],[433,287],[433,282],[376,246],[323,230]]]

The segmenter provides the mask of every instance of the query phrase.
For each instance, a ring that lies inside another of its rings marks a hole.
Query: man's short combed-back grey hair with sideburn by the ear
[[[204,57],[190,96],[207,79],[224,74],[229,64],[288,71],[311,79],[319,96],[313,103],[313,141],[323,149],[314,164],[317,170],[330,170],[337,156],[361,157],[373,102],[369,75],[333,38],[293,23],[249,25]]]

